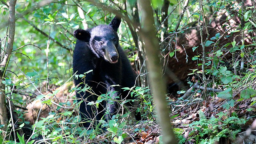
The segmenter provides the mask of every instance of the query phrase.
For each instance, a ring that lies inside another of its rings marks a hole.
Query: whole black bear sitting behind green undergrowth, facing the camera
[[[121,89],[121,87],[133,87],[136,78],[129,60],[119,45],[117,29],[120,23],[121,19],[115,17],[109,25],[74,31],[77,41],[73,56],[73,71],[81,75],[92,70],[84,78],[74,79],[75,85],[80,84],[79,87],[82,88],[89,86],[91,90],[91,92],[76,92],[76,97],[82,100],[80,114],[86,128],[97,124],[101,119],[109,120],[116,114],[118,109],[116,98],[134,99],[128,91]],[[109,92],[112,100],[102,101],[98,108],[95,108],[92,101],[97,100],[97,95]],[[132,106],[132,102],[128,105]],[[140,119],[138,115],[135,117],[137,120]]]

